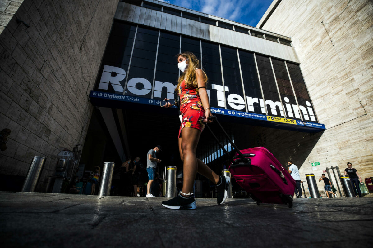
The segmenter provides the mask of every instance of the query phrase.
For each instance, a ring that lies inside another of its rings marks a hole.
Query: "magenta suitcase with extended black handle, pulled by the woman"
[[[210,118],[217,121],[216,116]],[[217,123],[220,125],[219,122]],[[209,128],[209,125],[206,126]],[[232,162],[229,166],[229,171],[239,186],[247,191],[251,199],[258,205],[260,203],[275,203],[287,204],[288,207],[292,207],[295,180],[272,153],[264,147],[240,151],[223,127],[221,125],[220,127],[236,149],[235,156],[233,158],[230,157]],[[225,154],[229,155],[216,136],[214,134],[213,136]]]

